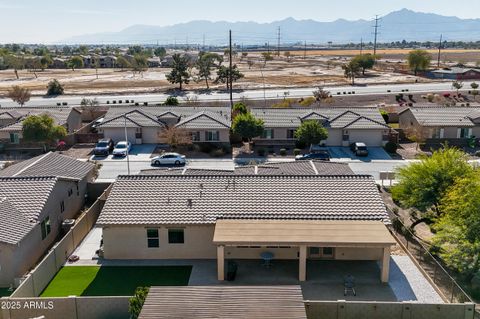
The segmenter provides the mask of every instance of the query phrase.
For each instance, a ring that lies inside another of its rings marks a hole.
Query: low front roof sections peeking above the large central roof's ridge
[[[232,171],[170,168],[146,169],[140,175],[355,175],[346,163],[326,161],[295,161],[237,166]]]

